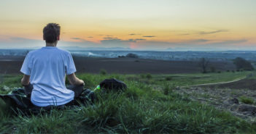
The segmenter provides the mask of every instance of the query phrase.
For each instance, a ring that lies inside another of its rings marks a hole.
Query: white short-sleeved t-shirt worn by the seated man
[[[63,105],[74,99],[74,91],[66,88],[66,74],[76,72],[69,51],[54,46],[30,51],[20,72],[30,75],[34,86],[31,102],[36,106]]]

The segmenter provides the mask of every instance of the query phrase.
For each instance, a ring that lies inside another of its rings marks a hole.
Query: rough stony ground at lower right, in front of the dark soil
[[[230,89],[230,88],[177,88],[175,91],[182,95],[189,96],[193,101],[201,104],[214,106],[221,111],[227,111],[236,117],[240,117],[249,122],[256,122],[255,104],[244,104],[241,96],[245,96],[256,101],[256,91]]]

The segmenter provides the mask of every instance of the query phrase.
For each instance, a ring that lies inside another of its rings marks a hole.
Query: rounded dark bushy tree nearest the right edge
[[[252,67],[251,62],[248,62],[246,59],[243,59],[241,57],[237,57],[236,59],[234,59],[233,63],[236,64],[237,70],[255,70],[254,67]]]

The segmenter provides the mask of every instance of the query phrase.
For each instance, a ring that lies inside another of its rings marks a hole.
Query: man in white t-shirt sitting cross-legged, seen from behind
[[[25,86],[26,93],[31,93],[31,102],[36,106],[69,104],[82,93],[85,85],[74,74],[76,67],[69,51],[56,47],[60,40],[60,29],[55,23],[44,27],[46,46],[30,51],[20,70],[24,74],[21,83]],[[71,90],[66,88],[66,75],[69,83],[74,85]]]

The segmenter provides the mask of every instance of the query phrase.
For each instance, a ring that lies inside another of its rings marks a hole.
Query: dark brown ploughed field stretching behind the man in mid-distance
[[[25,57],[0,56],[0,73],[20,73],[20,67]],[[201,72],[201,68],[196,61],[163,61],[154,59],[136,58],[89,58],[74,56],[74,63],[77,72],[99,73],[106,70],[107,73],[120,74],[175,74]],[[232,62],[212,62],[216,70],[233,70]]]

